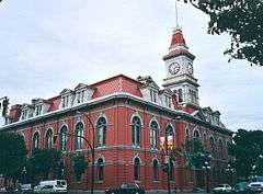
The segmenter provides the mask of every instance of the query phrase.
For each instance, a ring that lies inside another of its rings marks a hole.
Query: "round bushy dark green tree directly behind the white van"
[[[27,161],[28,174],[33,180],[46,180],[49,173],[56,174],[60,159],[61,153],[56,149],[34,149]]]

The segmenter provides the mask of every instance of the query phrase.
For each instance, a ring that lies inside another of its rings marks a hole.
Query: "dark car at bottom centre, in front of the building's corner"
[[[145,194],[145,190],[136,183],[123,183],[119,187],[106,190],[105,194]]]

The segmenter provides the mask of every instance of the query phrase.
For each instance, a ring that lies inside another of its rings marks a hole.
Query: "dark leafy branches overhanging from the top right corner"
[[[262,0],[184,0],[209,16],[208,33],[231,35],[225,54],[263,66]],[[229,59],[229,61],[230,61]]]

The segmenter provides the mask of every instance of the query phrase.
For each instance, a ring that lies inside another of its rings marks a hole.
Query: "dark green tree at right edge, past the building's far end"
[[[239,129],[233,136],[229,153],[235,157],[233,167],[239,178],[263,175],[263,132]]]

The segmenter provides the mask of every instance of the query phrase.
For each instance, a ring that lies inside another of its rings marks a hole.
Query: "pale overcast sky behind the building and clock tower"
[[[165,76],[174,0],[5,0],[0,3],[0,96],[11,104],[52,98],[124,73]],[[196,56],[202,106],[230,129],[263,128],[263,69],[228,62],[229,36],[207,34],[207,18],[179,3],[179,21]]]

